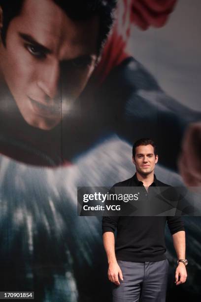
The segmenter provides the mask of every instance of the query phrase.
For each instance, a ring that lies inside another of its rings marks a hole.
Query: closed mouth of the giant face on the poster
[[[41,104],[41,102],[33,100],[31,97],[28,97],[30,100],[30,103],[32,105],[34,113],[45,116],[45,117],[53,117],[55,115],[61,114],[61,108],[59,106],[53,106],[53,105],[44,105]]]

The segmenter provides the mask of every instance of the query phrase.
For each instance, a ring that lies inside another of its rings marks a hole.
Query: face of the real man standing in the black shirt
[[[133,163],[135,164],[135,168],[138,173],[143,175],[152,173],[157,162],[158,155],[154,155],[153,146],[147,145],[136,147]]]

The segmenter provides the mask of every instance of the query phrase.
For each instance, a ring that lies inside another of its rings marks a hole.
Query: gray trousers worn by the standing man
[[[112,283],[113,302],[165,302],[168,260],[157,262],[117,261],[123,274],[120,285]]]

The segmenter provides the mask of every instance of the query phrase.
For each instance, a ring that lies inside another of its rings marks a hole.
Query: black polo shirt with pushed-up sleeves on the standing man
[[[136,173],[128,180],[113,187],[137,187],[143,183],[138,181]],[[167,187],[154,175],[151,186]],[[144,188],[144,190],[146,190]],[[117,260],[131,262],[154,262],[165,260],[165,226],[170,233],[185,230],[181,216],[105,216],[102,218],[102,233],[114,232],[115,254]]]

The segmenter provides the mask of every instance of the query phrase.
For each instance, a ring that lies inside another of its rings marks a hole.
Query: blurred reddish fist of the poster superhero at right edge
[[[188,127],[178,167],[186,186],[201,186],[201,122],[192,123]]]

